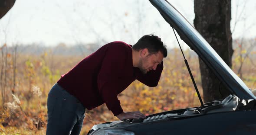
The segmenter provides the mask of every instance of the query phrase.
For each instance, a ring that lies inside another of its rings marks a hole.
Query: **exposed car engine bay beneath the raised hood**
[[[250,102],[252,101],[252,102]],[[249,105],[251,104],[251,105]],[[246,106],[249,105],[249,106]],[[147,116],[145,119],[126,119],[128,123],[141,123],[160,121],[164,119],[176,119],[190,116],[200,116],[210,113],[230,112],[236,110],[253,109],[255,106],[254,100],[240,100],[235,95],[229,95],[224,100],[215,100],[213,102],[204,103],[204,107],[195,107],[189,109],[179,109],[174,111],[167,111]]]

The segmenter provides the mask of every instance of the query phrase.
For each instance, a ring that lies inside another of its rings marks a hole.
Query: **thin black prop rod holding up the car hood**
[[[179,46],[180,46],[180,48],[181,48],[180,42],[179,42],[179,40],[178,40],[178,38],[177,38],[177,36],[176,36],[176,33],[175,33],[175,31],[174,31],[174,28],[172,27],[172,29],[173,29],[174,35],[175,35],[175,37],[176,37],[176,39],[177,39],[177,42],[178,42],[178,44],[179,44]],[[198,91],[198,89],[197,89],[197,84],[196,84],[196,82],[195,82],[195,80],[194,80],[193,74],[192,74],[191,71],[190,71],[190,67],[189,67],[189,65],[188,65],[188,63],[187,63],[187,59],[185,58],[185,55],[184,55],[182,49],[181,49],[181,52],[182,52],[182,55],[183,55],[183,57],[184,57],[184,61],[185,61],[185,64],[186,64],[186,66],[187,66],[187,70],[188,70],[188,72],[189,72],[189,74],[190,74],[191,80],[192,80],[192,82],[193,82],[193,84],[194,84],[194,87],[195,87],[195,89],[196,89],[196,91],[197,91],[197,96],[198,96],[198,98],[199,98],[199,100],[200,100],[201,108],[204,108],[202,98],[201,98],[200,93],[199,93],[199,91]]]

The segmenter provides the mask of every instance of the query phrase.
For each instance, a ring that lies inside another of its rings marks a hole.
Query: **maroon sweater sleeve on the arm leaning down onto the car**
[[[118,95],[118,75],[124,70],[126,50],[122,45],[111,45],[105,51],[105,57],[98,74],[98,90],[114,116],[123,112]]]

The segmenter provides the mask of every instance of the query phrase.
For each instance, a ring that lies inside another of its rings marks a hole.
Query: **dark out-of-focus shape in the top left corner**
[[[15,0],[0,0],[0,19],[13,7]]]

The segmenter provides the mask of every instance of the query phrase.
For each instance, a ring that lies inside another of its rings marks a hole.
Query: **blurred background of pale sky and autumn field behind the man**
[[[193,25],[194,0],[168,1]],[[256,1],[231,1],[232,69],[255,89]],[[108,42],[133,45],[151,33],[168,48],[161,80],[154,88],[131,84],[118,96],[123,109],[149,115],[200,106],[174,33],[148,0],[16,0],[0,19],[1,135],[45,134],[47,94],[61,74]],[[202,92],[198,57],[180,42]],[[86,111],[81,134],[113,120],[105,105]]]

